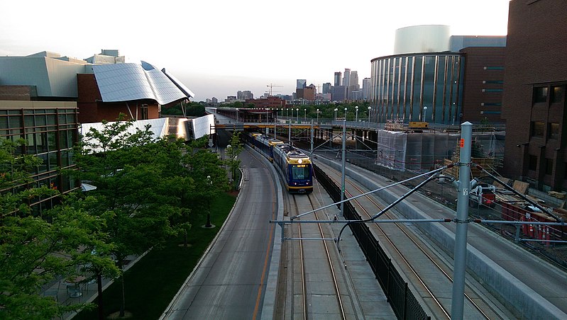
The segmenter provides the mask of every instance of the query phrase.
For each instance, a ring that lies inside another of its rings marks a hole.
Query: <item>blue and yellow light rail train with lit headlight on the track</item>
[[[313,168],[309,156],[290,144],[260,133],[248,132],[245,137],[248,144],[275,164],[284,178],[287,191],[312,193]]]

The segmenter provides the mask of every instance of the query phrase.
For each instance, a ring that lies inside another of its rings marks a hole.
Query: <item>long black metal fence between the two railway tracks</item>
[[[341,188],[336,185],[319,166],[314,165],[317,181],[323,185],[334,202],[341,201]],[[344,203],[344,216],[349,220],[361,220],[351,202]],[[407,287],[400,273],[395,269],[390,258],[380,247],[378,239],[370,232],[368,225],[363,223],[350,224],[358,246],[362,249],[366,260],[370,263],[380,287],[390,302],[397,319],[431,319],[419,304],[414,294]]]

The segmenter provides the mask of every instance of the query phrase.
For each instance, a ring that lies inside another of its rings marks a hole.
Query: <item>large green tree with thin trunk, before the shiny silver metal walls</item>
[[[193,189],[182,163],[185,144],[154,139],[149,126],[132,127],[132,121],[118,121],[103,122],[101,130],[92,128],[75,153],[79,170],[73,171],[97,187],[89,191],[91,200],[82,208],[106,221],[111,253],[120,269],[127,256],[160,246],[177,233],[172,222],[187,214],[180,200]],[[121,316],[124,307],[125,299]]]

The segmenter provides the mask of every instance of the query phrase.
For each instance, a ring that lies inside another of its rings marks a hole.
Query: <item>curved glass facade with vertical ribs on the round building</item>
[[[373,59],[370,76],[373,118],[381,123],[403,120],[458,124],[463,62],[464,57],[458,52]]]

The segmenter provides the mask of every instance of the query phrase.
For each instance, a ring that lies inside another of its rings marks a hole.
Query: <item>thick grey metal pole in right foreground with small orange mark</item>
[[[425,109],[425,108],[424,108]],[[470,191],[470,145],[473,139],[473,124],[461,124],[461,157],[458,168],[457,227],[455,233],[455,266],[453,268],[453,300],[451,319],[463,319],[465,301],[465,273],[468,229],[468,194]]]

